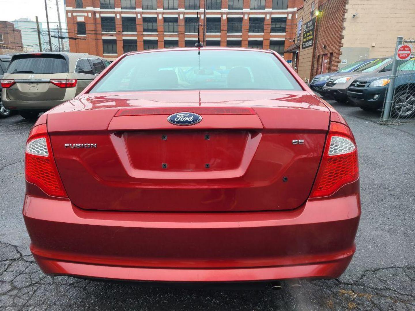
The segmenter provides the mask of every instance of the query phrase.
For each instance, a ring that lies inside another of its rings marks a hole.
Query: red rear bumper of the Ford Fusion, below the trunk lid
[[[355,250],[354,195],[308,200],[290,211],[86,211],[27,194],[31,251],[51,275],[153,282],[336,278]],[[341,194],[340,189],[337,194]],[[350,191],[348,191],[350,193]]]

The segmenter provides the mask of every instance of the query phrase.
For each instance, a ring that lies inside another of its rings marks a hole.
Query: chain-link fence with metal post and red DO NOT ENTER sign
[[[398,37],[394,59],[379,123],[415,124],[415,38]]]

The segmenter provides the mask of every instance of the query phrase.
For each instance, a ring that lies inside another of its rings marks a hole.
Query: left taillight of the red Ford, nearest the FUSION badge
[[[68,197],[52,155],[46,124],[35,126],[30,131],[26,143],[25,175],[28,182],[37,185],[46,194]]]

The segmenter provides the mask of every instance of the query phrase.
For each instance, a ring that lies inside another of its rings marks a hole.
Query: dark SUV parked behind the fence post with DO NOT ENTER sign
[[[392,64],[386,68],[391,70]],[[363,75],[349,86],[347,96],[363,110],[381,109],[390,78],[390,71]],[[398,117],[408,117],[415,112],[415,57],[408,61],[401,61],[398,66],[392,108]]]

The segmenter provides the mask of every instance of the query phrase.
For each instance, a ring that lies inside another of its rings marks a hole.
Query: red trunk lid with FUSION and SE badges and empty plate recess
[[[308,198],[330,119],[320,100],[306,92],[183,91],[166,103],[157,93],[83,95],[48,114],[56,164],[78,207],[259,211]],[[176,112],[203,120],[176,126],[167,121]]]

